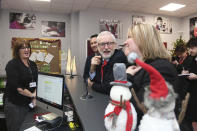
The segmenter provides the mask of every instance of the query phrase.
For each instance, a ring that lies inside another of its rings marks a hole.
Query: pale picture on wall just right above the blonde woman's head
[[[172,23],[167,17],[155,17],[155,27],[161,34],[172,34]]]

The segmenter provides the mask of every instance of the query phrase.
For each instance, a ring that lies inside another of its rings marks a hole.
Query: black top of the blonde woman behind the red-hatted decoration
[[[164,77],[164,79],[173,85],[173,87],[175,88],[175,92],[177,91],[176,87],[178,83],[178,77],[177,77],[176,69],[172,63],[170,63],[166,59],[161,59],[161,58],[157,58],[155,60],[147,60],[145,62],[153,66],[157,71],[159,71],[161,75]],[[128,81],[132,82],[133,84],[132,88],[134,88],[135,93],[139,98],[140,102],[143,102],[145,87],[150,85],[150,78],[148,72],[145,71],[144,69],[141,69],[134,76],[128,74],[127,77],[128,77],[127,78]],[[133,97],[131,98],[131,101],[134,104],[135,109],[137,111],[138,125],[139,125],[143,113],[140,109],[138,109]]]

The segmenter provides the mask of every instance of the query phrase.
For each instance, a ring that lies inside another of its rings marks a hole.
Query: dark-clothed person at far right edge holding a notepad
[[[189,70],[184,70],[182,73],[189,73],[190,75],[187,77],[189,80],[189,92],[190,92],[190,100],[188,103],[188,108],[186,112],[186,119],[192,124],[194,131],[197,130],[197,38],[191,38],[187,47],[189,48],[189,53],[192,56],[192,62]]]

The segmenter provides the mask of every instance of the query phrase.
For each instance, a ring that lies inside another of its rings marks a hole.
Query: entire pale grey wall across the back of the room
[[[58,37],[58,39],[61,39],[62,41],[63,51],[67,52],[68,48],[70,48],[72,57],[76,56],[77,71],[79,75],[82,75],[86,59],[86,40],[92,34],[99,32],[100,19],[116,19],[121,21],[123,24],[123,38],[117,39],[117,43],[121,44],[126,40],[128,28],[132,23],[132,15],[145,16],[146,23],[149,24],[153,24],[155,18],[155,15],[94,8],[72,13],[70,15],[35,13],[38,21],[35,30],[11,30],[9,29],[9,11],[10,10],[3,10],[0,12],[0,60],[3,63],[0,65],[0,74],[5,74],[5,65],[8,60],[11,59],[10,47],[12,37],[42,37],[42,20],[66,22],[66,37]],[[171,49],[171,44],[179,38],[178,31],[182,30],[183,26],[182,19],[175,17],[169,18],[172,22],[172,34],[161,34],[162,41],[168,43],[168,50]],[[62,61],[61,65],[62,73],[64,74],[66,62]]]

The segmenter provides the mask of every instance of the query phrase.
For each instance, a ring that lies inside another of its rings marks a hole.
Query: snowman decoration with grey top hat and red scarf
[[[127,81],[126,66],[116,63],[113,67],[115,81],[110,91],[111,102],[105,110],[104,122],[108,131],[134,131],[137,124],[137,113],[130,99],[132,97]]]

